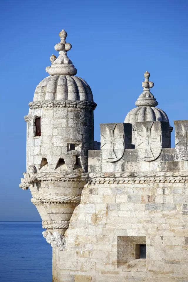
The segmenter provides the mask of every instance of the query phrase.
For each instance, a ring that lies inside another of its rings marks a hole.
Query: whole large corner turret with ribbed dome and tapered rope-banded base
[[[59,36],[61,42],[55,45],[59,56],[50,57],[51,66],[46,68],[50,76],[37,85],[29,115],[24,117],[27,172],[20,187],[30,187],[43,228],[64,234],[87,177],[96,103],[85,80],[74,76],[77,70],[67,56],[72,46],[66,43],[66,31]]]

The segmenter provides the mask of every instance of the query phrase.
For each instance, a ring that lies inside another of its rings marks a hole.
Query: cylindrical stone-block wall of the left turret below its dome
[[[80,151],[82,167],[87,170],[87,151],[93,149],[93,110],[80,108],[44,107],[33,108],[31,119],[27,122],[27,168],[35,165],[37,170],[56,169],[59,158],[65,157],[69,164],[69,143]],[[35,118],[41,117],[41,136],[35,136]],[[77,130],[75,130],[77,128]],[[48,167],[41,167],[46,158]],[[64,167],[56,169],[63,172]]]

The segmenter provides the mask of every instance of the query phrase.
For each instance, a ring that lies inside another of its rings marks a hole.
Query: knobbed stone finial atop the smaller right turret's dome
[[[154,95],[150,92],[150,88],[154,86],[154,83],[149,81],[150,73],[148,71],[144,74],[145,81],[142,82],[142,87],[144,88],[142,94],[139,96],[135,102],[136,106],[149,106],[156,107],[158,105]]]

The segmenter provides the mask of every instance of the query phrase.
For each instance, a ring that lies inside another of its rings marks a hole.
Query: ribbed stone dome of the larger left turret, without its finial
[[[90,86],[80,77],[53,75],[44,78],[36,87],[33,101],[83,100],[93,101]]]

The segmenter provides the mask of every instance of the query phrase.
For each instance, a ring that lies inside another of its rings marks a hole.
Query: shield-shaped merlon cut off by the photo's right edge
[[[188,160],[188,120],[174,120],[175,149],[179,160]]]

